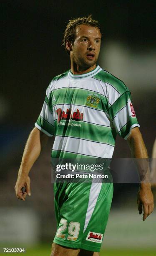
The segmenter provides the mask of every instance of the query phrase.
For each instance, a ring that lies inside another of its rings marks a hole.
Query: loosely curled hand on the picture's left
[[[23,192],[22,189],[25,188]],[[26,196],[30,196],[30,178],[27,174],[20,174],[15,184],[16,197],[20,200],[25,201]]]

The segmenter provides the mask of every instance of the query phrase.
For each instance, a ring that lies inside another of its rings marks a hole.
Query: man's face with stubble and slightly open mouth
[[[96,64],[101,46],[101,33],[96,27],[80,25],[76,28],[71,58],[79,67],[89,68]]]

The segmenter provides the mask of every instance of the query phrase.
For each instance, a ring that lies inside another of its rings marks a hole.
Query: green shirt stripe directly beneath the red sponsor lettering
[[[78,123],[81,126],[76,126],[76,124]],[[95,125],[95,124],[86,123],[83,121],[78,122],[74,120],[69,122],[65,120],[61,120],[59,124],[57,123],[57,120],[55,120],[54,125],[55,125],[55,131],[57,131],[56,135],[58,136],[69,136],[74,138],[86,139],[89,141],[106,143],[111,146],[115,145],[116,130],[112,129],[111,127]]]

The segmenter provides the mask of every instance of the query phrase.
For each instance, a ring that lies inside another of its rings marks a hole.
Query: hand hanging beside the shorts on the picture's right
[[[146,184],[143,187],[140,187],[138,191],[138,211],[139,214],[142,213],[143,208],[143,221],[153,212],[154,203],[153,203],[153,194],[151,192],[151,187],[148,187]]]

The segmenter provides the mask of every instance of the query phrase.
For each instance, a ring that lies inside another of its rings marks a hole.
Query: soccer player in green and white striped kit
[[[96,64],[101,47],[98,21],[91,15],[69,20],[63,44],[70,56],[70,70],[50,82],[26,143],[15,185],[16,196],[23,201],[30,196],[29,171],[49,136],[55,136],[52,161],[111,159],[117,134],[128,142],[132,157],[148,158],[128,88]],[[153,194],[148,173],[143,180],[137,202],[146,220],[153,211]],[[54,192],[58,230],[51,256],[100,255],[112,182],[55,182]]]

